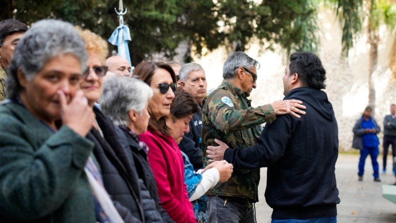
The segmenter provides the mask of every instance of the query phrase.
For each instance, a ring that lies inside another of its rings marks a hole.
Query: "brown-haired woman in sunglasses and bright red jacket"
[[[175,98],[175,73],[166,63],[146,61],[136,66],[133,76],[143,80],[153,91],[148,101],[148,130],[140,135],[140,139],[149,149],[148,163],[154,173],[162,207],[176,223],[196,223],[184,183],[182,154],[166,126],[166,116]]]

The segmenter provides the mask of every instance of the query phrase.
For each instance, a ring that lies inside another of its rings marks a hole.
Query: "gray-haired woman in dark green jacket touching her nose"
[[[95,118],[79,85],[86,61],[84,42],[62,21],[35,23],[16,46],[0,106],[2,221],[97,221],[85,174]]]

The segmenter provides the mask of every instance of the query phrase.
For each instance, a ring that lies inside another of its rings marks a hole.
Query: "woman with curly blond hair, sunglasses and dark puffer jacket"
[[[148,212],[147,205],[142,201],[136,168],[131,166],[126,151],[119,142],[113,122],[95,106],[107,71],[107,67],[102,66],[107,55],[107,42],[89,30],[78,31],[88,54],[87,69],[80,80],[80,86],[96,115],[87,138],[95,143],[94,155],[100,166],[103,186],[124,222],[162,222],[159,213]]]

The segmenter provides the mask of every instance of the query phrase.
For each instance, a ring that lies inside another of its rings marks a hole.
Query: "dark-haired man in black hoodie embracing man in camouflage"
[[[325,80],[326,71],[316,55],[292,54],[283,77],[284,100],[301,100],[306,115],[277,116],[249,149],[231,149],[219,140],[220,146],[208,147],[209,159],[224,159],[236,168],[268,167],[265,199],[273,208],[272,223],[337,221],[338,125],[332,104],[321,91]]]

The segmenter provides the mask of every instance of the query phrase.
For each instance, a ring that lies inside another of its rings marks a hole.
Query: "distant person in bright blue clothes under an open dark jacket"
[[[363,115],[353,126],[352,147],[360,150],[358,166],[359,172],[357,173],[359,176],[358,180],[363,180],[364,163],[366,162],[367,156],[370,154],[371,164],[373,165],[374,170],[374,181],[381,182],[379,165],[377,161],[378,155],[380,154],[380,149],[378,148],[380,140],[378,139],[377,134],[381,132],[381,128],[374,118],[371,117],[372,111],[373,109],[371,107],[366,107],[366,109],[364,109]]]

